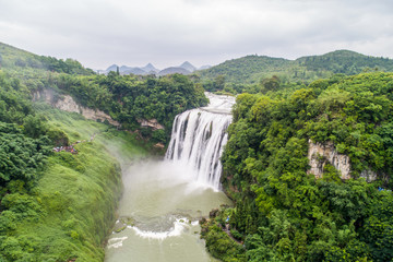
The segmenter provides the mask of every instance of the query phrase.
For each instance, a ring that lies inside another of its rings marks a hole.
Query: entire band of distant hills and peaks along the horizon
[[[159,76],[172,73],[195,73],[202,82],[213,82],[217,76],[224,76],[225,83],[241,86],[260,83],[263,79],[273,75],[278,76],[282,82],[300,81],[307,84],[337,73],[353,75],[368,71],[393,72],[393,59],[365,56],[349,50],[336,50],[322,56],[307,56],[296,60],[253,55],[227,60],[214,67],[201,67],[198,70],[190,62],[163,70],[155,68],[152,63],[135,68],[112,64],[98,73],[116,72],[118,68],[121,74],[155,74]],[[95,73],[74,59],[64,60],[37,56],[0,43],[0,70],[11,70],[13,73],[23,74],[28,69],[85,75]],[[222,78],[219,79],[222,80]]]

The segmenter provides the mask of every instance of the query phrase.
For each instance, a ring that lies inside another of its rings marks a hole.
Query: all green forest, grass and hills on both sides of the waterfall
[[[214,258],[392,261],[392,70],[390,59],[341,50],[248,56],[187,76],[99,75],[0,44],[0,262],[103,261],[122,190],[114,155],[130,160],[167,145],[175,116],[209,103],[204,91],[237,95],[222,157],[234,206],[201,219]],[[43,90],[121,127],[33,103]],[[350,178],[323,155],[322,177],[310,172],[314,144],[347,156]]]

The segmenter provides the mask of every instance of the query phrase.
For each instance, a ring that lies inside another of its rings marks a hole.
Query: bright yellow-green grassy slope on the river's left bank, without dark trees
[[[96,136],[75,145],[78,155],[61,152],[50,156],[33,196],[41,206],[40,214],[17,225],[7,239],[5,246],[11,248],[3,257],[10,261],[103,261],[103,242],[121,193],[120,166],[112,155],[140,157],[146,151],[136,145],[133,135],[106,132],[108,126],[78,114],[40,110],[71,142]],[[106,144],[111,144],[110,152]]]

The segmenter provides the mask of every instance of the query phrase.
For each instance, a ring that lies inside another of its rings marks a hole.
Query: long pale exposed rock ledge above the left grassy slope
[[[55,92],[51,90],[43,90],[40,92],[36,92],[33,94],[33,100],[45,100],[46,103],[52,105],[55,108],[60,110],[70,111],[70,112],[78,112],[84,116],[87,119],[92,120],[100,120],[108,122],[115,127],[120,127],[120,123],[114,120],[109,115],[105,114],[98,109],[91,109],[88,107],[81,106],[75,103],[75,100],[69,96],[63,95],[58,99],[55,98]]]

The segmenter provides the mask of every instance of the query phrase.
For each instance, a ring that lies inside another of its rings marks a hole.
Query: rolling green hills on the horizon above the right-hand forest
[[[254,55],[228,60],[198,73],[204,81],[224,75],[227,83],[254,84],[273,75],[277,75],[284,82],[309,83],[336,73],[353,75],[370,70],[391,72],[393,71],[393,60],[365,56],[349,50],[301,57],[296,60]]]

